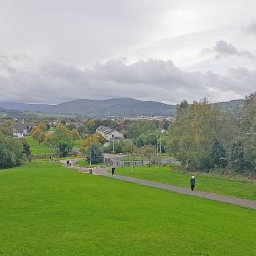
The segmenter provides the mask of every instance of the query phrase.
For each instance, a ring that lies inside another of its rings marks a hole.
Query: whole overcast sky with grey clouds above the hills
[[[0,0],[0,102],[242,99],[255,42],[255,0]]]

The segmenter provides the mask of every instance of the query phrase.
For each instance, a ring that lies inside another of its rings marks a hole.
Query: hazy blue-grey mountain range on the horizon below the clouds
[[[241,108],[243,100],[231,100],[217,104],[220,104],[223,109],[232,110],[236,107]],[[176,113],[176,105],[168,105],[155,101],[142,101],[132,98],[114,98],[106,100],[77,99],[57,105],[0,102],[0,107],[7,110],[79,114],[85,117],[174,116]]]

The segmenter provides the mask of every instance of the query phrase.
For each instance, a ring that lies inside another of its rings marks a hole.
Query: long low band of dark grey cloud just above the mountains
[[[226,76],[213,72],[187,72],[172,61],[120,59],[80,69],[48,63],[33,70],[0,74],[0,101],[59,103],[88,98],[132,97],[176,104],[204,96],[213,102],[243,98],[254,89],[256,71],[230,69]]]

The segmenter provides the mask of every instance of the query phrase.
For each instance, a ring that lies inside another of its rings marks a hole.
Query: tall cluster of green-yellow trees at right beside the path
[[[256,175],[256,91],[245,97],[242,117],[207,99],[183,100],[167,148],[188,169]]]

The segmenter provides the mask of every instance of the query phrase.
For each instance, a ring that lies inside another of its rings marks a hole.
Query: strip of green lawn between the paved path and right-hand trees
[[[152,180],[174,186],[190,187],[191,173],[178,172],[167,166],[134,166],[116,168],[116,174],[131,176],[144,180]],[[194,174],[196,190],[209,191],[223,195],[246,198],[256,201],[256,182],[242,178],[231,178],[206,173]]]

